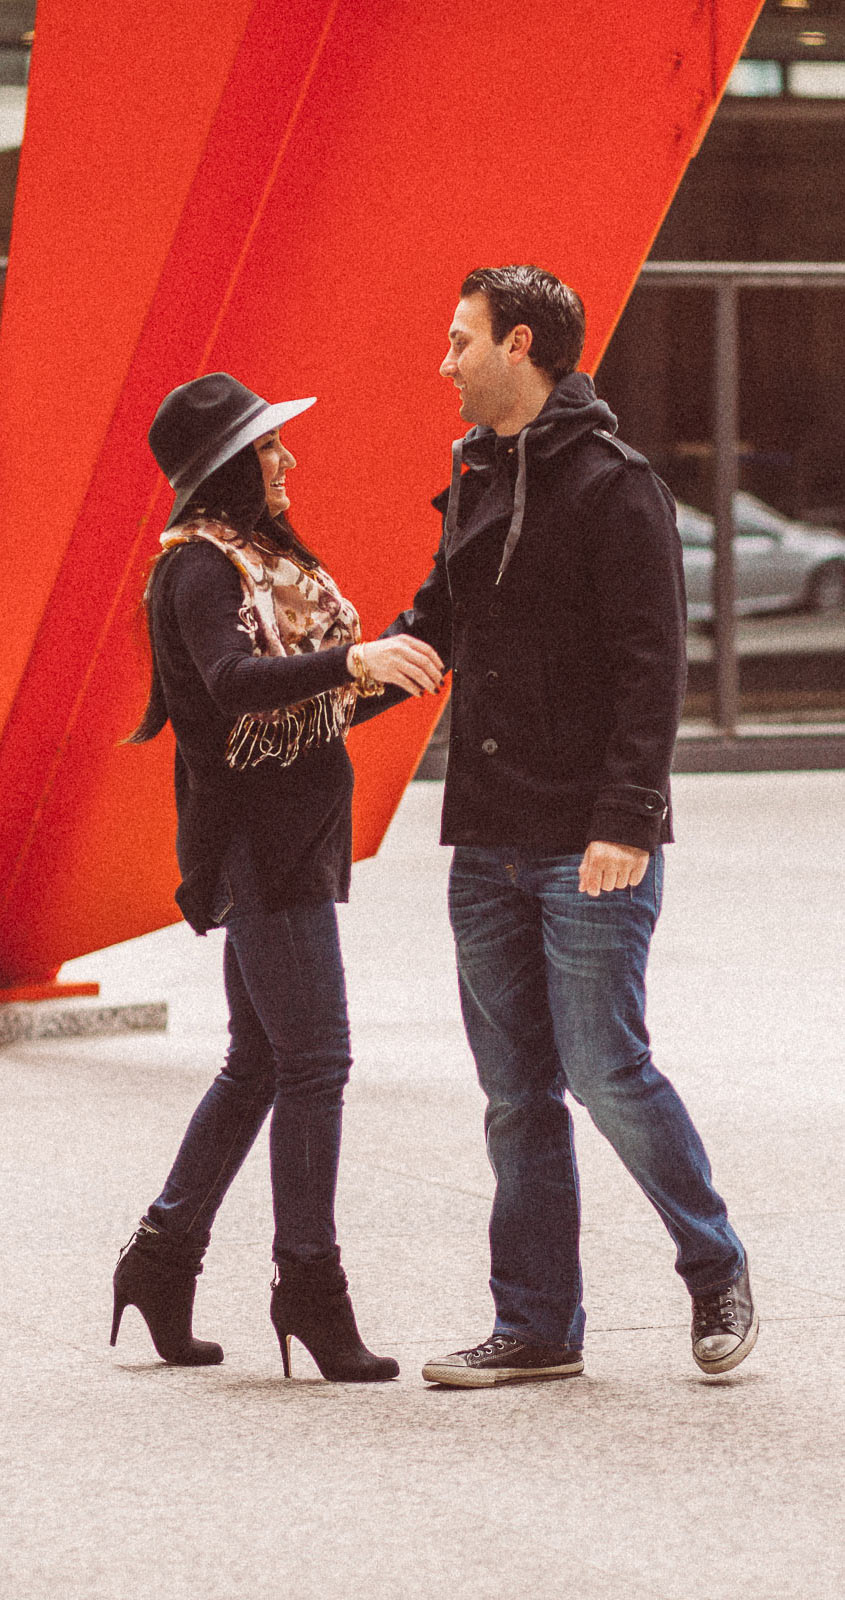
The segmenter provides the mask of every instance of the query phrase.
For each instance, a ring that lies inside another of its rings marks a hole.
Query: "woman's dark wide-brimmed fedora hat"
[[[269,405],[229,373],[206,373],[171,389],[147,435],[152,454],[176,491],[168,528],[210,472],[310,405],[314,397]]]

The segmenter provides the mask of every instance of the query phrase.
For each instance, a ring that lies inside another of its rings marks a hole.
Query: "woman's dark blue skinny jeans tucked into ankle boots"
[[[205,1248],[218,1208],[270,1112],[274,1259],[330,1251],[349,1078],[346,979],[333,901],[227,909],[229,1051],[165,1187],[146,1213]]]

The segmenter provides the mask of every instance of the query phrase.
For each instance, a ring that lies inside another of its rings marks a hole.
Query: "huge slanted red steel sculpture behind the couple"
[[[38,0],[0,330],[0,989],[176,920],[138,602],[160,398],[226,370],[365,634],[429,566],[464,274],[536,261],[594,368],[760,0]],[[440,706],[352,736],[371,854]],[[29,986],[29,987],[21,987]]]

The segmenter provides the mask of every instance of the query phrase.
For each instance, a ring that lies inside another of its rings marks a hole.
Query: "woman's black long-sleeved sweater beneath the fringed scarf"
[[[226,741],[243,712],[293,706],[349,683],[346,645],[314,654],[253,656],[238,611],[232,562],[205,542],[162,557],[152,586],[150,637],[176,733],[176,901],[197,933],[211,926],[221,861],[245,840],[262,909],[347,899],[352,859],[352,766],[342,739],[232,771]]]

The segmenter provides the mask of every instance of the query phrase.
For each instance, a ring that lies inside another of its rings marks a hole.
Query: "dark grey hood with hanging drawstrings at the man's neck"
[[[498,584],[504,578],[522,533],[527,494],[527,458],[547,461],[551,456],[557,456],[559,451],[567,450],[584,434],[595,432],[595,429],[615,434],[616,418],[610,406],[595,394],[592,378],[587,378],[586,373],[568,373],[567,378],[562,378],[555,384],[543,410],[519,434],[514,512],[504,541],[496,578]],[[463,469],[466,466],[471,472],[493,474],[499,443],[499,435],[491,427],[471,427],[464,438],[455,440],[451,446],[451,483],[445,530],[447,549],[458,526],[458,496]]]

